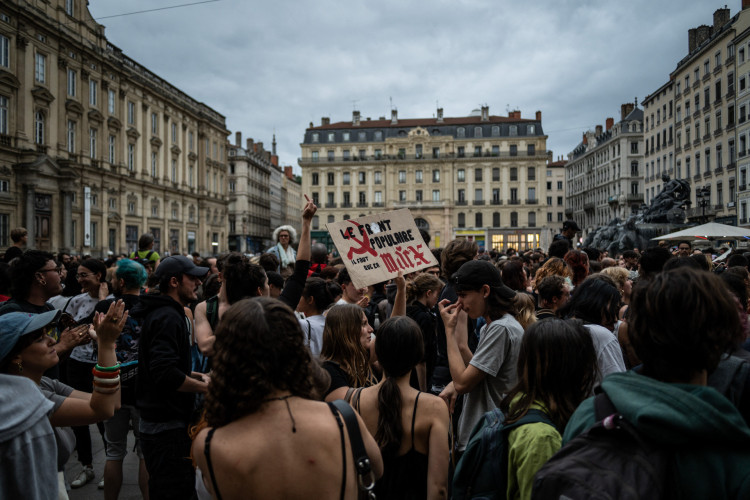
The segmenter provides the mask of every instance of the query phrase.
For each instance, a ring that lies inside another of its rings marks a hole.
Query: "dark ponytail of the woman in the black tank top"
[[[396,379],[410,373],[424,358],[422,331],[406,316],[386,320],[378,328],[375,353],[385,372],[385,380],[378,391],[378,431],[375,441],[383,455],[394,456],[401,448],[404,432],[401,423],[401,391]]]

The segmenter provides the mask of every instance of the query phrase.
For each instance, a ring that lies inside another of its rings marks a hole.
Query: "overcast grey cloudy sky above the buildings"
[[[111,43],[297,167],[323,116],[543,113],[555,158],[687,55],[714,0],[90,0]],[[731,15],[740,0],[728,4]],[[119,15],[119,16],[118,16]],[[108,17],[117,16],[117,17]],[[230,137],[234,141],[234,136]]]

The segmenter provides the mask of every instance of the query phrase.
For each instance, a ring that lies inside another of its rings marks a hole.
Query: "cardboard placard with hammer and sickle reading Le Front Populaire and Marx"
[[[352,283],[364,288],[438,266],[409,209],[326,224]]]

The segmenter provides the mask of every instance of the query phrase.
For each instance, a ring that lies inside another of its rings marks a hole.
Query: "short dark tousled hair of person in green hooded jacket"
[[[630,340],[644,373],[685,382],[711,373],[740,338],[737,305],[714,274],[680,268],[640,282],[629,309]]]

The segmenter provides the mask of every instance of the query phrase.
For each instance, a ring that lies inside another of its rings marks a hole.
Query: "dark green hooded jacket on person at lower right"
[[[716,390],[668,384],[634,371],[608,376],[602,389],[644,437],[679,448],[677,498],[750,498],[750,428]],[[589,398],[568,422],[563,446],[595,421]]]

